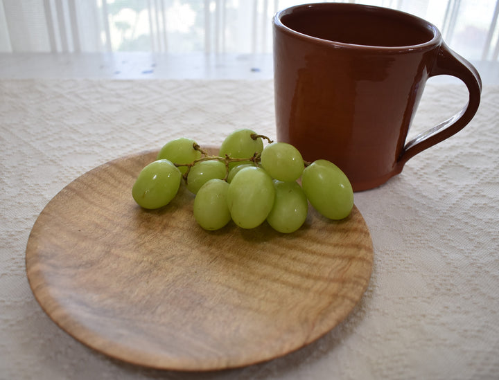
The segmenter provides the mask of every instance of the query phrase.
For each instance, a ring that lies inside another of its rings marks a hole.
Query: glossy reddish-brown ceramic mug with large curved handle
[[[277,12],[272,25],[277,140],[306,161],[332,161],[354,191],[399,174],[408,159],[468,124],[480,104],[476,69],[419,17],[313,3]],[[443,74],[466,84],[468,104],[406,142],[426,81]]]

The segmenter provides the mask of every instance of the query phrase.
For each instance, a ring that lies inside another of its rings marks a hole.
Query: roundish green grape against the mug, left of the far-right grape
[[[267,145],[261,154],[261,165],[270,177],[279,181],[296,181],[304,171],[299,150],[288,143]]]

